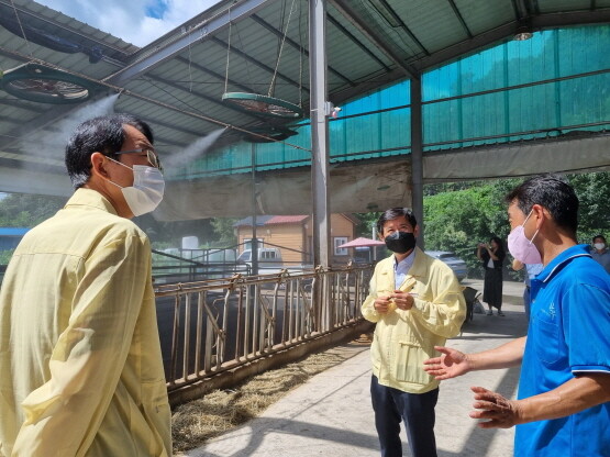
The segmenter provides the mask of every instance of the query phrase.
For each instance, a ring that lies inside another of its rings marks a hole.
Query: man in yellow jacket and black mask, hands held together
[[[387,210],[377,230],[393,255],[377,264],[362,313],[377,323],[370,395],[381,456],[402,456],[402,420],[413,457],[435,457],[439,381],[423,370],[423,360],[459,333],[464,296],[452,269],[415,247],[419,226],[411,210]]]

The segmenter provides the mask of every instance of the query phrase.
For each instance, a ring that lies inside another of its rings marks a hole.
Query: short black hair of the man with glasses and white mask
[[[81,123],[66,145],[66,168],[73,187],[82,187],[91,177],[91,154],[115,158],[125,142],[123,125],[137,129],[154,143],[153,131],[144,121],[124,113],[102,115]]]

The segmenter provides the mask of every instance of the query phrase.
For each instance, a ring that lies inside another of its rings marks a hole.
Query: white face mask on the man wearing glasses
[[[165,190],[165,180],[160,170],[155,167],[147,167],[146,165],[134,165],[132,168],[110,157],[108,158],[133,170],[133,186],[122,187],[109,179],[114,186],[121,188],[133,215],[137,216],[155,211],[163,200],[163,192]]]

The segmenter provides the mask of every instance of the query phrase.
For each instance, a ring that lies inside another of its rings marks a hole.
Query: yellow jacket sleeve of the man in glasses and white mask
[[[51,379],[22,403],[13,456],[85,455],[114,394],[151,274],[151,247],[133,234],[104,242],[81,260]]]

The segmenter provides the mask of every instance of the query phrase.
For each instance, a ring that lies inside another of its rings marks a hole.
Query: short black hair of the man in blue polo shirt
[[[517,205],[524,214],[530,214],[534,204],[540,204],[550,213],[557,226],[576,236],[578,228],[578,197],[572,186],[554,175],[541,175],[528,179],[507,197],[510,204]]]

